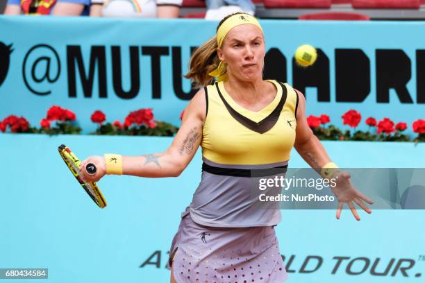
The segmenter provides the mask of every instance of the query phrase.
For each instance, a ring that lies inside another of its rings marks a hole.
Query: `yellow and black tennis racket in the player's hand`
[[[63,161],[65,161],[65,164],[67,164],[69,170],[72,172],[76,180],[78,180],[85,192],[90,196],[90,198],[92,198],[94,203],[96,203],[100,208],[106,207],[106,200],[103,198],[103,195],[99,187],[97,187],[96,182],[85,182],[81,178],[81,161],[78,160],[78,157],[76,157],[76,155],[74,155],[74,153],[72,153],[72,151],[67,146],[65,146],[65,144],[61,144],[58,147],[58,151]],[[89,174],[94,174],[97,171],[96,166],[92,163],[87,164],[85,166],[85,170]]]

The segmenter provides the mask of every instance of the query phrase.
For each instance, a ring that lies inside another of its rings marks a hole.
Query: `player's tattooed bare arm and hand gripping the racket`
[[[185,109],[181,128],[176,137],[161,153],[149,153],[135,156],[122,156],[122,173],[140,177],[176,177],[188,166],[197,152],[202,139],[202,126],[206,117],[205,92],[200,89]],[[97,173],[89,175],[85,165],[93,163]],[[97,181],[106,174],[106,163],[103,156],[92,156],[81,162],[83,179]]]

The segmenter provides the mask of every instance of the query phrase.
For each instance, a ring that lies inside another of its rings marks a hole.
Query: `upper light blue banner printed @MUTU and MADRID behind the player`
[[[424,119],[424,22],[262,20],[265,78],[304,92],[308,114],[331,123],[349,109],[394,122]],[[76,112],[85,132],[95,110],[108,121],[153,108],[178,124],[196,89],[183,77],[190,53],[217,22],[197,19],[92,19],[0,16],[0,119],[23,115],[38,125],[51,105]],[[317,47],[313,67],[293,61],[301,44]],[[344,126],[345,127],[345,126]]]

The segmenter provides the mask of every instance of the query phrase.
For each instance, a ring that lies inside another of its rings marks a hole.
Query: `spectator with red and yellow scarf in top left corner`
[[[88,15],[90,0],[8,0],[4,15]]]

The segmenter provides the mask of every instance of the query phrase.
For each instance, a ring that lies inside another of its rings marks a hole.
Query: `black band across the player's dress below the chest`
[[[202,163],[202,171],[206,171],[215,175],[226,175],[235,177],[264,177],[269,175],[276,175],[278,173],[286,173],[287,168],[288,164],[267,169],[233,169],[211,166],[206,164],[205,162]]]

